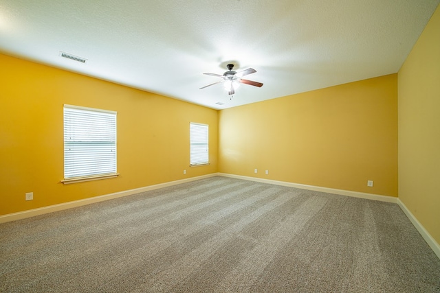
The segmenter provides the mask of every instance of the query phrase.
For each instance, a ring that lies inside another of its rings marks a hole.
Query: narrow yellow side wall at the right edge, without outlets
[[[440,6],[398,77],[399,198],[440,243]]]

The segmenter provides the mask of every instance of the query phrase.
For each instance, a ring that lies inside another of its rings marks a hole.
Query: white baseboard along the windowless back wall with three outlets
[[[304,185],[304,184],[299,184],[299,183],[290,183],[290,182],[285,182],[285,181],[255,178],[255,177],[241,176],[241,175],[234,175],[234,174],[219,173],[219,176],[225,176],[225,177],[237,178],[237,179],[243,179],[243,180],[251,180],[251,181],[274,184],[274,185],[282,185],[282,186],[287,186],[287,187],[295,187],[295,188],[307,189],[307,190],[313,190],[313,191],[327,192],[327,194],[339,194],[340,196],[352,196],[354,198],[365,198],[367,200],[379,200],[381,202],[397,203],[397,198],[395,198],[393,196],[380,196],[377,194],[366,194],[364,192],[358,192],[358,191],[333,189],[333,188],[328,188],[328,187]]]

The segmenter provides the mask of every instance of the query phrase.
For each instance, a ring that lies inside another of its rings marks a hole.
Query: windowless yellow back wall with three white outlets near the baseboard
[[[227,174],[397,196],[397,74],[221,110],[219,162]]]

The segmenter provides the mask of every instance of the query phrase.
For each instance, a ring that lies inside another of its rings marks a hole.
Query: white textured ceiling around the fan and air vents
[[[397,72],[439,2],[0,0],[0,52],[230,108]],[[200,90],[228,61],[263,87]]]

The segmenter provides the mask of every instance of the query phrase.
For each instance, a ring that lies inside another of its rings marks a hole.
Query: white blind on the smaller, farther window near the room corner
[[[208,164],[208,125],[190,123],[190,165]]]

